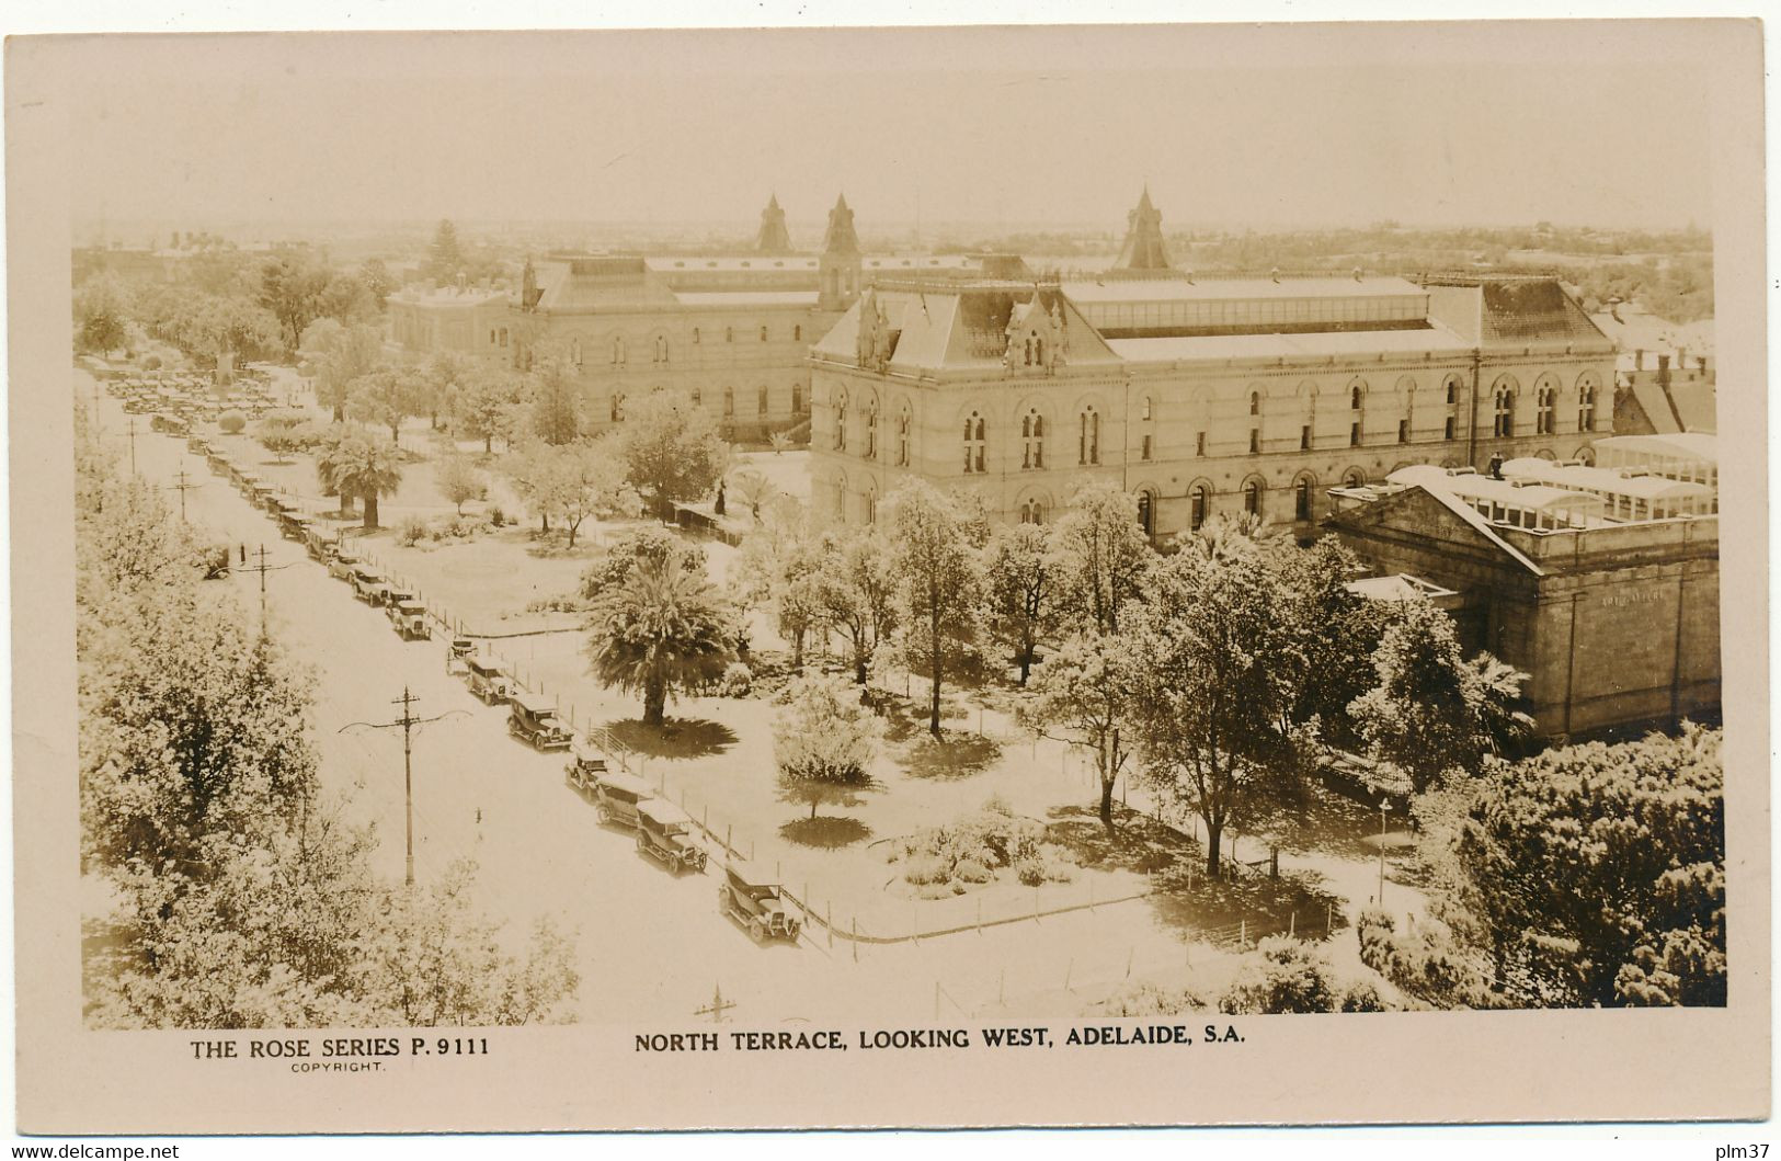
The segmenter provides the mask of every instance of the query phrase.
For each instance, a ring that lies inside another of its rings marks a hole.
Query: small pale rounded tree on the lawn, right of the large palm
[[[782,792],[810,803],[812,819],[823,803],[853,805],[853,796],[873,783],[878,735],[878,718],[848,682],[817,673],[793,678],[785,707],[773,719]]]

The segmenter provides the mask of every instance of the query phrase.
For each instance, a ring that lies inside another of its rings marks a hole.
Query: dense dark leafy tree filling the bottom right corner
[[[1453,840],[1492,985],[1517,1006],[1726,1003],[1719,730],[1494,762]]]

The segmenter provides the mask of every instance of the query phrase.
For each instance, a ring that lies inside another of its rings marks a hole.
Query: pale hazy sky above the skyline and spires
[[[77,223],[1710,224],[1644,25],[71,45]],[[1626,32],[1626,34],[1622,34]]]

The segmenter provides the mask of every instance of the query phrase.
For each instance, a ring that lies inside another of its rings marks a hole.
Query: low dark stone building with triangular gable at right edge
[[[1501,474],[1336,488],[1329,527],[1378,573],[1450,589],[1468,652],[1528,673],[1544,737],[1717,719],[1717,490],[1546,459]]]

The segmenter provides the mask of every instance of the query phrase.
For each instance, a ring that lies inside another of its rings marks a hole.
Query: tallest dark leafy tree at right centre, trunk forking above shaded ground
[[[1297,801],[1309,739],[1282,730],[1291,670],[1268,554],[1184,548],[1152,573],[1133,627],[1145,775],[1206,821],[1206,873],[1218,874],[1227,826]]]

